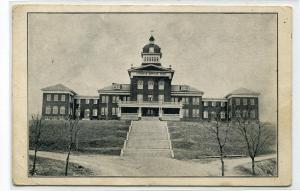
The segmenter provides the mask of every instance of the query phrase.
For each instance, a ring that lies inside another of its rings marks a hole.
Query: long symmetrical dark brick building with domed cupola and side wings
[[[259,93],[239,88],[224,98],[204,98],[189,85],[173,85],[175,71],[161,64],[161,48],[153,36],[141,52],[141,65],[128,69],[130,84],[112,83],[97,96],[81,96],[57,84],[42,89],[45,119],[161,120],[259,119]]]

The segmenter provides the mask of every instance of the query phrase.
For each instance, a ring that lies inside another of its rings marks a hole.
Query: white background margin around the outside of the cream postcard
[[[28,0],[20,0],[19,2],[28,3]],[[47,1],[35,1],[39,3],[46,3]],[[11,107],[11,97],[12,97],[12,67],[11,67],[11,7],[9,4],[13,2],[10,0],[1,0],[0,1],[0,19],[2,22],[0,26],[1,35],[0,35],[0,145],[1,145],[1,154],[0,154],[0,190],[183,190],[180,187],[171,187],[171,188],[161,188],[161,187],[125,187],[125,188],[113,188],[113,187],[15,187],[12,185],[11,181],[11,131],[12,131],[12,107]],[[49,3],[49,2],[47,2]],[[51,1],[51,3],[97,3],[97,4],[107,4],[105,1]],[[299,34],[300,34],[300,10],[298,1],[246,1],[246,0],[210,0],[210,1],[201,1],[201,0],[188,0],[188,1],[164,1],[163,3],[158,0],[152,1],[110,1],[109,4],[224,4],[224,5],[245,5],[245,4],[254,4],[254,5],[292,5],[294,7],[294,35],[293,35],[293,49],[299,51]],[[297,35],[298,34],[298,35]],[[293,55],[293,185],[289,188],[284,189],[298,189],[300,190],[300,118],[297,117],[300,115],[300,56],[294,51]],[[297,75],[298,74],[298,75]],[[299,100],[299,101],[298,101]],[[298,128],[296,128],[298,127]],[[185,190],[270,190],[272,188],[266,187],[256,187],[256,188],[196,188],[189,187],[184,188]],[[281,188],[276,188],[280,190]],[[272,189],[273,190],[273,189]]]

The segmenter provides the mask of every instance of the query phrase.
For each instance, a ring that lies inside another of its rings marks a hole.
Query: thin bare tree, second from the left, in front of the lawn
[[[68,126],[69,128],[69,145],[68,145],[68,154],[67,154],[66,166],[65,166],[65,176],[68,176],[71,151],[73,151],[74,148],[76,147],[76,142],[78,139],[77,135],[80,130],[79,118],[78,117],[76,117],[75,119],[69,118],[65,126],[66,127]]]

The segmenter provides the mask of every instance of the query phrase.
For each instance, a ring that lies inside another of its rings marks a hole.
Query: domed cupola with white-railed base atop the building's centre
[[[161,66],[160,59],[162,53],[160,47],[154,44],[155,38],[151,35],[149,38],[149,44],[146,44],[141,53],[142,56],[142,65],[153,64]]]

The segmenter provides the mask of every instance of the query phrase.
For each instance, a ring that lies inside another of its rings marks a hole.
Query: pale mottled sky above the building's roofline
[[[112,82],[129,83],[153,30],[172,84],[203,97],[244,87],[260,95],[260,118],[276,122],[277,36],[274,14],[30,14],[28,109],[41,113],[41,88],[62,83],[98,95]]]

